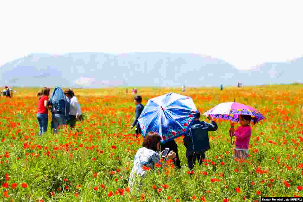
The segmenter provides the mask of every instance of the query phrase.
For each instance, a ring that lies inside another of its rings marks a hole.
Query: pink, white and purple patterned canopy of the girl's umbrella
[[[212,118],[225,119],[230,121],[239,121],[239,115],[251,115],[256,122],[261,121],[265,117],[255,108],[238,102],[224,102],[211,108],[204,115],[210,115]],[[251,120],[253,121],[253,120]]]

